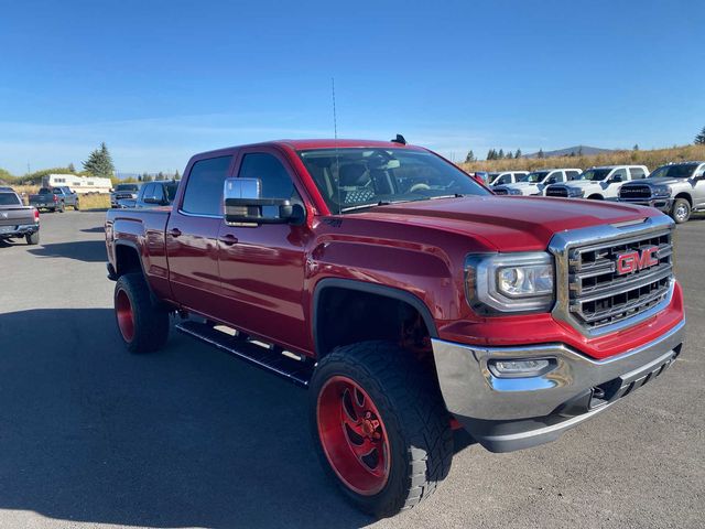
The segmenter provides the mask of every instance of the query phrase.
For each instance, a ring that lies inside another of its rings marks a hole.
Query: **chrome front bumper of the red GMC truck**
[[[510,452],[557,439],[661,375],[681,352],[684,326],[604,360],[563,344],[476,347],[433,339],[433,354],[448,411],[488,450]],[[554,359],[553,369],[533,377],[500,378],[488,364],[543,358]]]

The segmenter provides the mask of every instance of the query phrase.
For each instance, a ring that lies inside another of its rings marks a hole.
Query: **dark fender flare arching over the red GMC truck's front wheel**
[[[368,294],[377,294],[384,298],[390,298],[398,301],[403,301],[412,307],[414,307],[421,317],[423,319],[429,334],[432,338],[438,337],[438,331],[436,328],[435,321],[431,315],[431,311],[426,304],[415,294],[405,290],[395,289],[386,284],[368,283],[365,281],[357,281],[355,279],[339,279],[339,278],[325,278],[316,283],[313,300],[312,300],[312,314],[313,314],[313,338],[316,355],[321,350],[319,333],[318,333],[318,306],[321,304],[321,294],[330,288],[352,290],[357,292],[365,292]]]

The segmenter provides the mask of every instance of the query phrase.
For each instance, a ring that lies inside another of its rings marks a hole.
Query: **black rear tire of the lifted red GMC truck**
[[[127,333],[121,322],[126,299],[132,316],[132,332]],[[115,313],[118,334],[130,353],[152,353],[169,338],[169,312],[152,300],[141,273],[120,276],[115,285]]]

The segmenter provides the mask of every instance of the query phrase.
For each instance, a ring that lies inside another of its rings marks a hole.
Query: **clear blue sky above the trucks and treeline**
[[[705,2],[0,0],[0,168],[183,170],[214,148],[338,134],[533,152],[688,143]]]

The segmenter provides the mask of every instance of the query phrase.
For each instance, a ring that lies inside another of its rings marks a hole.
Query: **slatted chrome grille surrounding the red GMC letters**
[[[619,256],[657,247],[658,263],[619,273]],[[669,295],[673,278],[671,230],[579,246],[568,251],[568,313],[589,330],[637,316]]]

